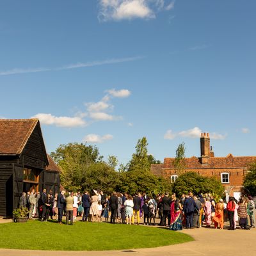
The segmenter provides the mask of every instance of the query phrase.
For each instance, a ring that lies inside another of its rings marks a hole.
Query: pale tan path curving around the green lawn
[[[4,256],[109,256],[109,255],[131,255],[131,256],[245,256],[256,255],[255,237],[256,228],[251,230],[215,230],[214,228],[198,228],[193,230],[182,230],[195,238],[195,241],[149,249],[131,249],[123,251],[102,252],[57,252],[57,251],[30,251],[30,250],[8,250],[0,249],[0,255]],[[54,239],[54,236],[52,236]],[[106,238],[107,239],[107,238]],[[129,237],[127,237],[129,239]],[[149,243],[154,243],[154,237]],[[100,243],[100,241],[99,241]]]

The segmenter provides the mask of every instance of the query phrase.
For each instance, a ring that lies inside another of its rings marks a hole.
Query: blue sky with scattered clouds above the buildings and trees
[[[40,118],[47,151],[97,145],[131,159],[255,155],[256,2],[0,3],[0,116]]]

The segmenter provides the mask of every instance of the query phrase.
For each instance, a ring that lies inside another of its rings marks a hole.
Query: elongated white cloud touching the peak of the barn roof
[[[52,114],[38,113],[31,118],[38,118],[45,125],[56,125],[59,127],[80,127],[86,125],[86,122],[79,116],[54,116]]]

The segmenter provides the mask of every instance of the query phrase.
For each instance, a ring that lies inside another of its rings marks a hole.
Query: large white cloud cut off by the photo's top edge
[[[156,13],[171,10],[174,1],[165,0],[99,0],[100,21],[154,19]]]

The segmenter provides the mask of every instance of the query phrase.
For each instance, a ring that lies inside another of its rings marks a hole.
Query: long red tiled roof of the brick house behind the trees
[[[174,158],[165,158],[163,168],[174,168]],[[185,159],[186,168],[246,168],[248,164],[256,161],[256,156],[237,156],[229,154],[227,157],[210,157],[208,164],[201,164],[200,157]]]

